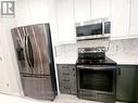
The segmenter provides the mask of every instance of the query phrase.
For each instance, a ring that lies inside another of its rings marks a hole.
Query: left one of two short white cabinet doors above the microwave
[[[90,1],[91,0],[75,0],[75,23],[90,20]]]

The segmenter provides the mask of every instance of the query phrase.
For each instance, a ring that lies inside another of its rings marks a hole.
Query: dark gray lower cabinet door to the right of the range
[[[136,77],[138,66],[135,65],[118,65],[121,75],[117,76],[116,99],[118,101],[133,102],[136,101]]]

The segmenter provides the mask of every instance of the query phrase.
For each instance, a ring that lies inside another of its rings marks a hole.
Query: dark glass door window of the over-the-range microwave
[[[91,36],[91,35],[102,35],[102,23],[78,26],[76,28],[77,37]]]

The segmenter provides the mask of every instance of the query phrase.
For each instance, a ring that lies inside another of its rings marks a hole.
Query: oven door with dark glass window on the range
[[[115,94],[116,66],[77,66],[78,92]]]

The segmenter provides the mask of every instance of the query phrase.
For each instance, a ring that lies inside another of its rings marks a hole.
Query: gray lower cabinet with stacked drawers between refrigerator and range
[[[59,87],[61,93],[76,94],[75,64],[58,64]]]

